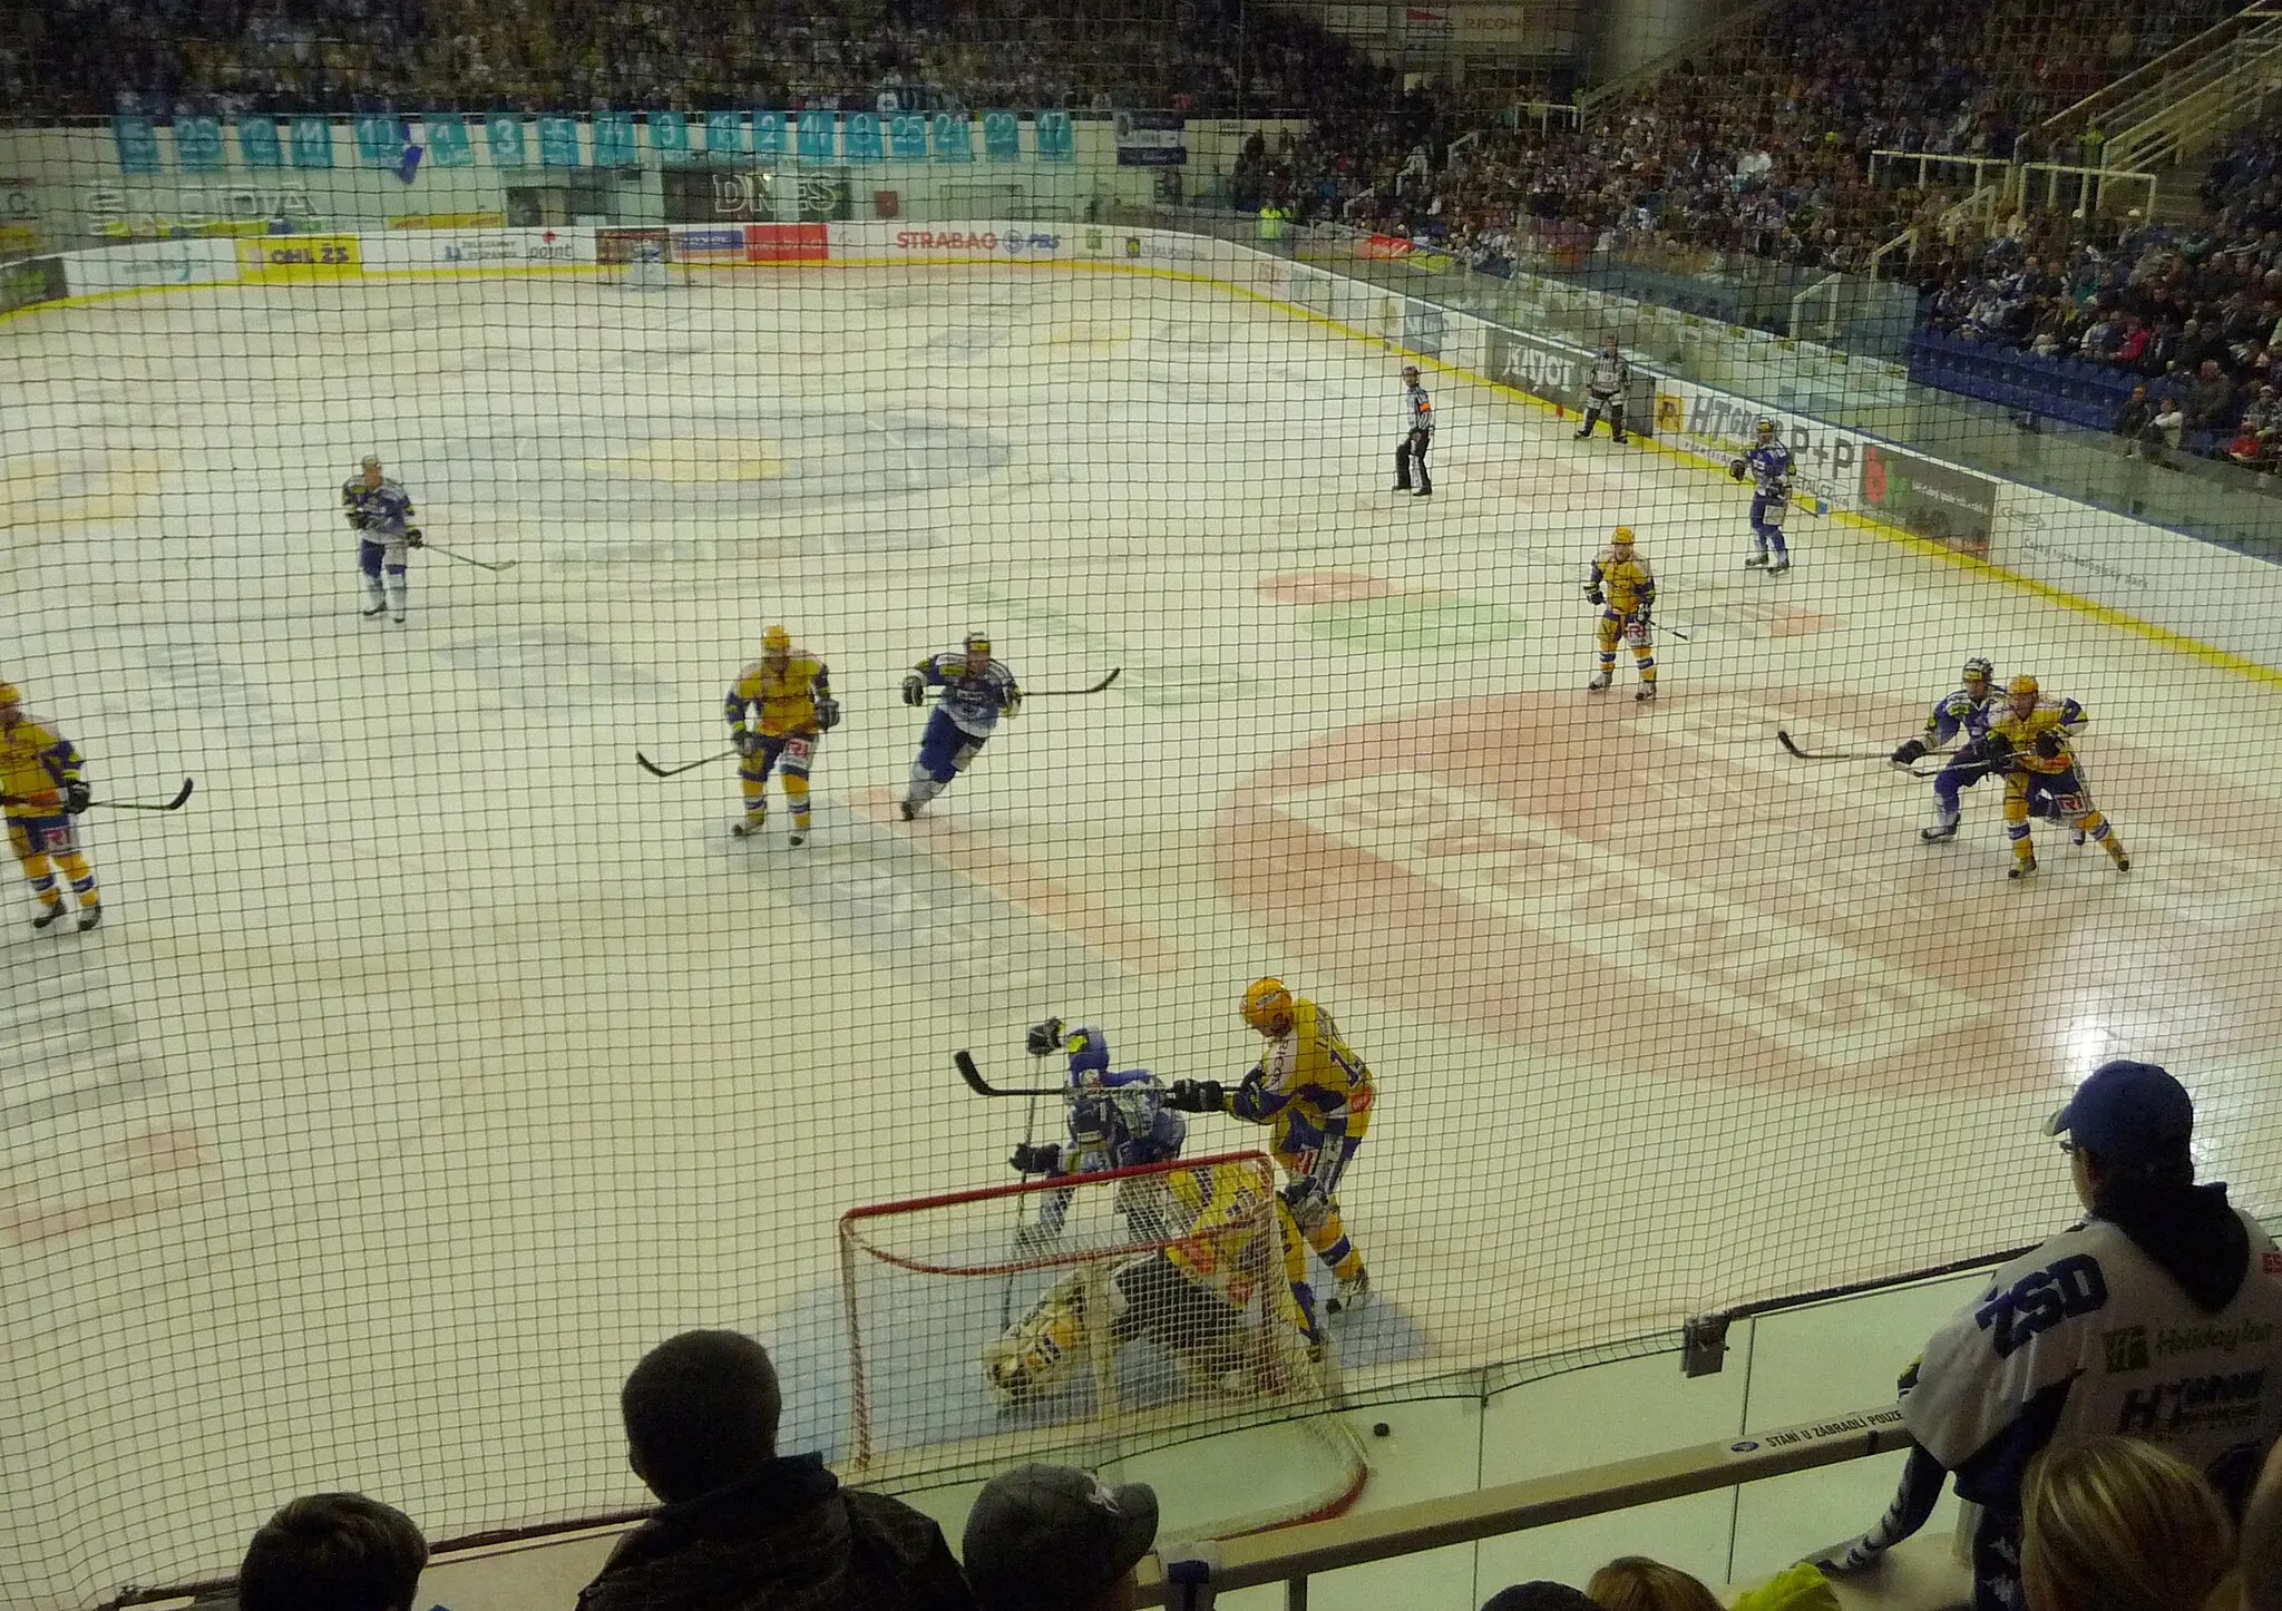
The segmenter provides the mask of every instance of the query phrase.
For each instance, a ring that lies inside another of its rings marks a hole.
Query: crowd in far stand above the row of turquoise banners
[[[1390,78],[1237,0],[0,0],[14,116],[1068,107],[1310,114]]]

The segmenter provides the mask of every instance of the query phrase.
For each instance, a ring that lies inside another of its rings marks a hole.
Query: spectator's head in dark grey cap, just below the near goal
[[[961,1559],[981,1611],[1130,1611],[1157,1543],[1157,1490],[1018,1465],[974,1497]]]

